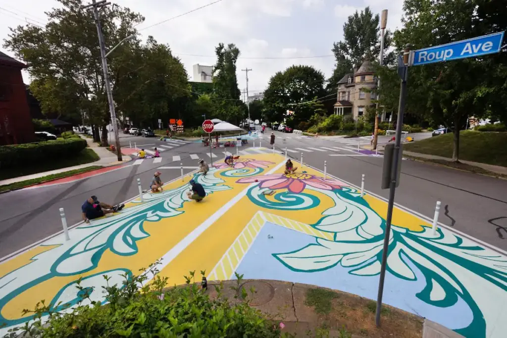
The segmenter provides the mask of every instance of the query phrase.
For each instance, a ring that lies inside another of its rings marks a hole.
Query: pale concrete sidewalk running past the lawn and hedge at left
[[[81,136],[81,138],[85,139],[86,142],[88,143],[88,146],[91,149],[93,149],[93,151],[100,157],[100,159],[98,161],[90,162],[90,163],[86,163],[86,164],[80,164],[78,166],[73,166],[73,167],[66,167],[66,168],[60,168],[60,169],[55,169],[55,170],[50,170],[50,171],[39,172],[37,174],[32,174],[32,175],[4,179],[4,180],[0,181],[0,185],[12,184],[12,183],[16,183],[16,182],[21,182],[21,181],[33,179],[33,178],[44,177],[44,176],[48,176],[48,175],[58,174],[61,172],[66,172],[66,171],[71,171],[71,170],[76,170],[76,169],[81,169],[81,168],[86,168],[86,167],[91,167],[91,166],[111,167],[111,166],[118,165],[120,163],[124,163],[124,162],[128,162],[128,161],[132,160],[129,156],[123,156],[122,157],[123,162],[120,162],[120,161],[118,161],[118,158],[115,154],[111,153],[110,151],[108,151],[104,147],[99,147],[97,145],[97,143],[93,142],[93,139],[86,138],[83,136]]]

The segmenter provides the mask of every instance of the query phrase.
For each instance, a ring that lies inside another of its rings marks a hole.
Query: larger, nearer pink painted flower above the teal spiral
[[[305,190],[305,186],[308,184],[317,189],[322,190],[335,190],[341,189],[342,186],[346,185],[342,181],[334,178],[324,179],[319,176],[304,174],[304,173],[293,173],[288,175],[273,174],[264,176],[245,177],[239,179],[238,183],[253,183],[259,181],[261,188],[268,189],[288,189],[291,193],[301,193]]]

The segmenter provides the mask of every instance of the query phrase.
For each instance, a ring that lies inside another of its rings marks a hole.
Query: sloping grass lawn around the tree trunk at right
[[[409,152],[452,158],[452,133],[403,145]],[[507,167],[507,132],[461,131],[459,159]]]

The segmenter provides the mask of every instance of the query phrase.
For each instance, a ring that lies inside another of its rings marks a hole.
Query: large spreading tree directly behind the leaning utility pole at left
[[[91,125],[102,126],[105,131],[110,118],[93,16],[89,10],[81,10],[81,0],[57,1],[62,7],[47,12],[45,29],[33,25],[11,28],[4,47],[28,64],[33,79],[30,90],[44,113],[58,112],[74,123],[85,116]],[[102,8],[101,18],[107,50],[135,33],[134,26],[143,20],[141,15],[119,6]],[[135,44],[125,43],[115,56]],[[115,72],[111,80],[115,85]],[[103,136],[106,140],[107,133]]]

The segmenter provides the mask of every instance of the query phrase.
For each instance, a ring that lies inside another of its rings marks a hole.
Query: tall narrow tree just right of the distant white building
[[[244,107],[239,100],[241,94],[236,78],[236,61],[239,49],[234,44],[220,43],[215,48],[216,64],[213,67],[213,94],[216,115],[219,119],[238,123],[243,118]]]

